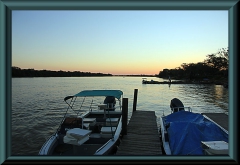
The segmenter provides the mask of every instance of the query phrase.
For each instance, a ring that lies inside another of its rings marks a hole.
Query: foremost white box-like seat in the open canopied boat
[[[66,132],[63,142],[72,145],[81,145],[89,139],[91,131],[81,128],[73,128]]]

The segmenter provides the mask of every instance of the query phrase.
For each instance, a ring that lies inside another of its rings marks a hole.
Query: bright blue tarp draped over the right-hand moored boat
[[[165,117],[172,155],[203,155],[201,141],[225,141],[228,134],[201,114],[179,111]]]

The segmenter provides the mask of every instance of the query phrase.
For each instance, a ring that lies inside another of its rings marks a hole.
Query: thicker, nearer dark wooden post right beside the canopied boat
[[[122,106],[122,134],[127,135],[127,121],[128,121],[128,98],[123,98]]]

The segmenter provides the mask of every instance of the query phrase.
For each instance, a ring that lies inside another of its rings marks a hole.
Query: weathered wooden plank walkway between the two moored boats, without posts
[[[162,155],[154,111],[134,111],[115,155]]]

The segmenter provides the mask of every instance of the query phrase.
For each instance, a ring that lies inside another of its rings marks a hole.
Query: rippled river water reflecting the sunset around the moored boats
[[[12,78],[12,155],[37,155],[61,122],[67,108],[64,97],[87,89],[122,90],[129,119],[138,89],[137,110],[155,111],[158,126],[175,97],[193,112],[228,112],[228,89],[221,85],[142,84],[142,77]]]

